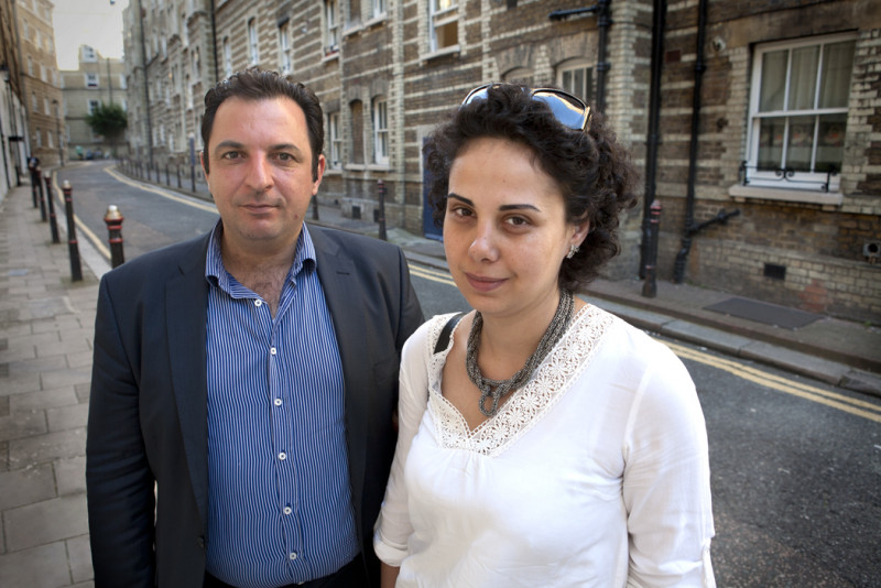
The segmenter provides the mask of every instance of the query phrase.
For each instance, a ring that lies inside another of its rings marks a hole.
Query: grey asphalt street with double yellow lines
[[[217,219],[208,202],[140,189],[108,166],[69,166],[57,183],[70,182],[76,214],[99,241],[107,206],[119,206],[127,259]],[[467,309],[447,273],[411,271],[426,316]],[[881,586],[881,401],[664,342],[692,373],[707,421],[718,586]]]

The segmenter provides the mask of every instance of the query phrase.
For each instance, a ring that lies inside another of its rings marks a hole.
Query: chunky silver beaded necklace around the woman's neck
[[[559,305],[557,312],[554,313],[554,318],[544,331],[542,340],[539,341],[539,347],[526,360],[526,363],[508,380],[490,380],[483,378],[480,373],[480,368],[477,364],[477,350],[480,347],[480,331],[483,328],[483,316],[475,313],[475,320],[471,324],[471,333],[468,335],[468,348],[465,352],[465,369],[468,372],[468,378],[480,390],[480,412],[485,416],[494,416],[499,412],[499,401],[509,392],[522,388],[532,378],[532,373],[544,361],[551,349],[557,344],[563,334],[572,322],[575,312],[575,298],[568,290],[559,291]],[[487,399],[492,399],[492,406],[487,410]]]

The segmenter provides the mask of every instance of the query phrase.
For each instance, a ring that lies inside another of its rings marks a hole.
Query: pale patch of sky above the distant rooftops
[[[79,45],[102,57],[122,58],[122,10],[129,0],[53,0],[55,55],[59,69],[76,69]]]

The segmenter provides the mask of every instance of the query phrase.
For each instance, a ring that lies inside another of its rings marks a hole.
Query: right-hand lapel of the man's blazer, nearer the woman
[[[366,381],[370,373],[368,352],[363,349],[363,334],[359,326],[365,324],[366,309],[358,295],[355,264],[339,246],[325,237],[320,229],[309,228],[317,258],[318,280],[324,290],[325,301],[334,322],[339,356],[342,362],[344,402],[346,417],[346,440],[349,453],[349,479],[355,501],[355,515],[358,536],[361,533],[361,493],[365,483],[367,450],[367,399],[369,394],[355,394],[354,390],[372,385]]]

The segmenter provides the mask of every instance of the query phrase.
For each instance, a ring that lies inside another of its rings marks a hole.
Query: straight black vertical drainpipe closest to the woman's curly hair
[[[649,259],[652,203],[655,199],[657,176],[659,119],[661,115],[661,73],[664,65],[664,28],[666,25],[666,0],[654,0],[654,25],[652,26],[652,78],[649,88],[649,129],[645,139],[645,196],[642,211],[642,247],[640,249],[640,277],[645,277],[645,265],[656,265]],[[656,251],[655,251],[656,255]]]

